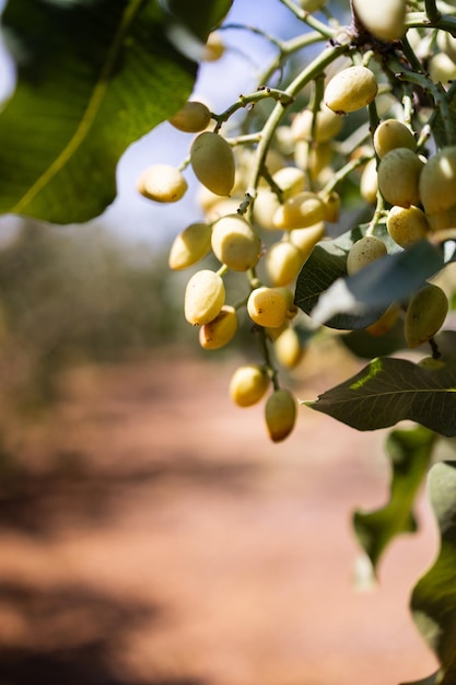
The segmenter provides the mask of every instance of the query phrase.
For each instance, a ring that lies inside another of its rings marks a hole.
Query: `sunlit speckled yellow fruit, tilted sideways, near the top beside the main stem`
[[[378,83],[367,67],[348,67],[328,82],[324,100],[337,114],[355,112],[369,105],[377,94]]]

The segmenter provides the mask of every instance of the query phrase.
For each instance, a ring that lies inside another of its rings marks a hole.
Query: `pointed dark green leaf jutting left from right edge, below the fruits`
[[[410,419],[454,437],[456,361],[431,370],[404,359],[376,358],[348,381],[305,404],[358,430]]]

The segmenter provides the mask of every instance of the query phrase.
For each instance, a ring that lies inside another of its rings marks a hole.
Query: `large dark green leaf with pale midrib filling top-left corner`
[[[204,2],[211,18],[230,4]],[[126,148],[192,90],[197,66],[167,22],[157,0],[10,0],[2,24],[19,81],[0,113],[0,212],[82,222],[114,200]]]

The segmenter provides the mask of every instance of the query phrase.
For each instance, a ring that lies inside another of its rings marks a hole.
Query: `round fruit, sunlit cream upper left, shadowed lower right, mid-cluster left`
[[[252,269],[261,252],[259,236],[241,214],[219,219],[212,227],[211,244],[215,257],[233,271]]]

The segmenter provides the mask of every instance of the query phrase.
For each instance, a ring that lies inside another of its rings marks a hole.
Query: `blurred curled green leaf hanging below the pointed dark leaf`
[[[421,426],[394,430],[387,438],[386,451],[391,464],[389,501],[375,511],[353,514],[354,531],[374,570],[397,535],[417,531],[414,500],[428,473],[435,439],[433,431]]]

